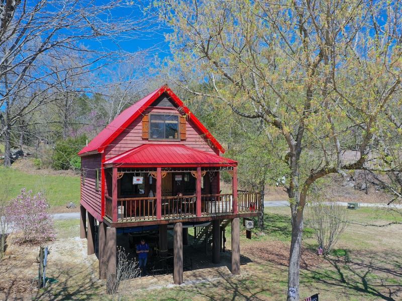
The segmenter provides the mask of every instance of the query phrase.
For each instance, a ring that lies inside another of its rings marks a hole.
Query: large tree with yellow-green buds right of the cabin
[[[310,187],[345,170],[400,172],[401,2],[161,1],[172,26],[172,79],[259,119],[281,143],[292,237],[288,301],[299,298]],[[386,20],[386,22],[383,22]],[[183,70],[184,69],[184,70]],[[194,89],[203,81],[204,89]],[[210,89],[207,90],[207,87]],[[398,97],[399,96],[399,97]],[[400,156],[400,154],[399,154]],[[284,166],[284,165],[285,166]]]

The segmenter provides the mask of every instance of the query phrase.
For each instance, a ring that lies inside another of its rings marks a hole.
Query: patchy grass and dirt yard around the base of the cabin
[[[265,212],[263,234],[254,229],[252,239],[246,239],[245,229],[241,226],[241,275],[233,276],[226,265],[221,265],[213,269],[185,271],[185,283],[179,286],[171,285],[171,275],[134,279],[130,288],[124,292],[123,299],[285,299],[291,237],[289,208],[266,208]],[[394,220],[386,211],[376,212],[369,208],[350,210],[349,214],[351,220],[362,223],[382,224]],[[31,293],[32,298],[111,299],[105,294],[105,281],[97,279],[96,256],[86,256],[86,240],[78,238],[78,220],[56,221],[55,227],[57,240],[50,243],[48,272],[50,277],[57,278],[59,282],[47,289],[34,290]],[[305,298],[319,292],[322,300],[402,299],[401,231],[402,225],[364,227],[351,224],[331,256],[324,259],[316,254],[314,233],[306,222],[300,263],[300,297]],[[230,249],[230,226],[226,229],[226,238],[226,247]],[[12,247],[11,250],[13,249],[18,252],[16,254],[21,254],[21,247]],[[31,251],[28,248],[20,261],[17,262],[11,254],[4,262],[11,260],[13,269],[25,264],[27,267],[21,268],[21,271],[27,273],[31,270],[31,274],[26,277],[34,277],[37,273],[36,253],[36,250]],[[210,258],[210,252],[205,254],[201,251],[200,260],[208,261]],[[222,258],[229,259],[230,262],[230,251],[222,253]],[[147,282],[160,285],[146,285]],[[148,288],[141,288],[143,285]],[[24,295],[27,296],[26,293]]]

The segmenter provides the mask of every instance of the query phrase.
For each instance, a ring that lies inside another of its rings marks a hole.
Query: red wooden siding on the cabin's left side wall
[[[95,189],[96,169],[100,169],[102,157],[100,154],[81,158],[81,169],[85,169],[85,183],[82,185],[81,176],[81,205],[98,221],[101,216],[102,179],[99,180],[99,189]],[[100,174],[100,172],[99,172]],[[100,177],[99,177],[100,178]]]

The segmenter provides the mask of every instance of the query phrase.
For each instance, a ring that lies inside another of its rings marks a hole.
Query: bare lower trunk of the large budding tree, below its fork
[[[297,207],[296,207],[297,208]],[[297,210],[297,209],[296,209]],[[300,251],[302,249],[303,235],[303,209],[298,209],[292,215],[292,239],[290,243],[289,274],[287,279],[288,295],[287,301],[299,300],[299,273],[300,273]],[[290,289],[294,289],[294,297],[290,296]]]

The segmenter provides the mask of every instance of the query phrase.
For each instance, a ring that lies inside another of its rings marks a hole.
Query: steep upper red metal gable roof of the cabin
[[[101,153],[106,146],[108,146],[124,129],[127,128],[144,110],[151,105],[162,93],[167,93],[179,107],[183,109],[188,116],[188,120],[191,120],[195,126],[204,134],[206,139],[211,140],[212,144],[220,150],[221,153],[225,153],[225,149],[218,142],[217,139],[208,131],[208,129],[202,124],[190,110],[183,104],[183,102],[173,93],[167,85],[160,87],[153,91],[151,94],[145,96],[143,99],[134,103],[131,107],[124,110],[119,116],[117,116],[107,127],[105,127],[100,133],[94,137],[87,146],[82,148],[78,155],[85,153]]]

